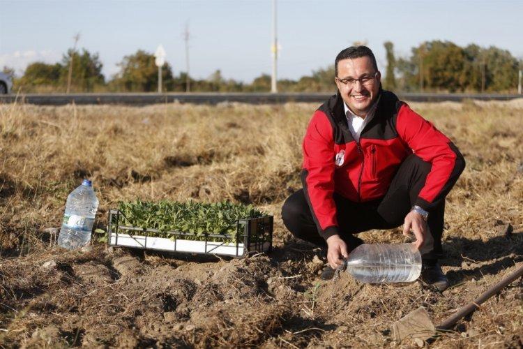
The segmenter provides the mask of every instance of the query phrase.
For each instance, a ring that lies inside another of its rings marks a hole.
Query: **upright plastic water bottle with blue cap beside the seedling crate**
[[[72,191],[66,202],[58,244],[65,248],[78,248],[91,241],[94,218],[98,210],[98,198],[89,179]]]

